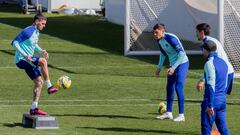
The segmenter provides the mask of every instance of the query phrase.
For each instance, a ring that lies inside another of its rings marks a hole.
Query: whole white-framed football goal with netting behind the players
[[[201,54],[195,26],[211,25],[211,36],[224,43],[235,71],[240,71],[239,0],[126,0],[125,55],[158,55],[152,28],[163,23],[177,35],[188,55]]]

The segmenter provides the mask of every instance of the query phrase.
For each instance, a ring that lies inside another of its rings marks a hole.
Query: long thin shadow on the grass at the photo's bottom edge
[[[158,133],[158,134],[175,134],[175,135],[200,135],[196,132],[187,131],[167,131],[167,130],[151,130],[151,129],[138,129],[138,128],[121,128],[121,127],[109,127],[109,128],[98,128],[98,127],[77,127],[82,129],[94,129],[100,131],[111,131],[111,132],[129,132],[129,133]]]

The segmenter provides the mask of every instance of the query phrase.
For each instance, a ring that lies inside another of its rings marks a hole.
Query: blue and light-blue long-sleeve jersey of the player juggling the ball
[[[25,56],[33,56],[34,51],[42,53],[43,50],[38,46],[39,30],[35,25],[23,29],[12,41],[12,46],[16,49],[15,62],[24,60]]]

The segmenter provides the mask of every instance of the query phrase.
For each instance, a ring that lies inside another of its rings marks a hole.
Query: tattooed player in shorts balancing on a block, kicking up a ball
[[[47,64],[48,53],[38,46],[39,32],[44,29],[46,22],[47,19],[42,14],[35,15],[33,24],[23,29],[11,43],[16,49],[15,63],[17,67],[25,70],[34,82],[33,101],[30,109],[31,115],[47,114],[47,112],[38,109],[38,101],[43,86],[41,73],[47,85],[48,93],[51,94],[58,91],[58,88],[53,87],[49,79]],[[34,56],[35,51],[42,54],[44,58]]]

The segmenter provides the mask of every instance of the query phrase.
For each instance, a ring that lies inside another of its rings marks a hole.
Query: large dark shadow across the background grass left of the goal
[[[33,15],[26,17],[0,17],[0,22],[23,29],[31,25],[32,18]],[[123,26],[101,22],[98,19],[99,17],[96,16],[50,16],[48,17],[47,27],[42,33],[122,56],[124,50]],[[157,64],[159,56],[129,56],[129,58]],[[189,59],[190,63],[194,63],[193,65],[190,64],[190,69],[203,68],[203,58],[199,59],[199,56],[189,56]],[[166,63],[165,65],[168,64]]]

